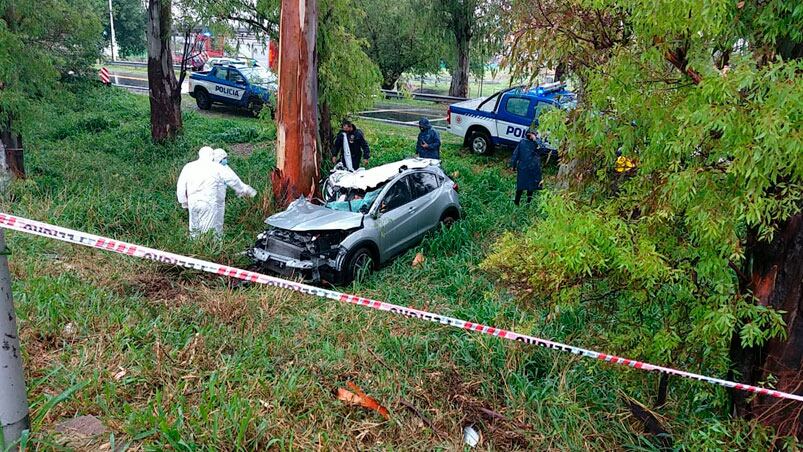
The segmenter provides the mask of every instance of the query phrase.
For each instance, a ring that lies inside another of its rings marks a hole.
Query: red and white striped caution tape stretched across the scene
[[[242,279],[244,281],[251,281],[268,286],[280,287],[282,289],[301,292],[308,295],[315,295],[330,300],[342,301],[359,306],[364,306],[378,311],[385,311],[391,314],[403,315],[409,318],[420,320],[427,320],[430,322],[440,323],[441,325],[448,325],[455,328],[461,328],[468,331],[475,331],[482,334],[488,334],[500,339],[507,339],[511,341],[522,342],[525,344],[538,345],[545,348],[560,350],[574,355],[584,356],[586,358],[597,359],[600,361],[609,362],[612,364],[619,364],[628,366],[634,369],[641,369],[648,372],[663,372],[668,375],[676,375],[678,377],[691,378],[700,380],[707,383],[725,386],[726,388],[733,388],[740,391],[747,391],[756,394],[777,397],[780,399],[790,399],[803,402],[803,396],[797,394],[789,394],[781,391],[774,391],[766,388],[759,388],[757,386],[750,386],[741,383],[736,383],[728,380],[720,380],[719,378],[708,377],[705,375],[695,374],[692,372],[685,372],[682,370],[672,369],[669,367],[657,366],[654,364],[636,361],[633,359],[621,358],[619,356],[607,355],[605,353],[595,352],[593,350],[586,350],[580,347],[561,344],[559,342],[552,342],[546,339],[541,339],[526,334],[519,334],[513,331],[507,331],[499,328],[494,328],[479,323],[466,322],[465,320],[455,319],[439,314],[433,314],[427,311],[399,306],[384,301],[371,300],[368,298],[357,297],[343,292],[334,290],[322,289],[320,287],[310,286],[308,284],[301,284],[293,281],[288,281],[274,276],[263,275],[261,273],[250,272],[241,270],[239,268],[229,267],[227,265],[220,265],[214,262],[208,262],[201,259],[182,256],[180,254],[168,253],[153,248],[144,246],[133,245],[131,243],[120,242],[106,237],[87,234],[84,232],[74,231],[72,229],[53,226],[47,223],[28,220],[26,218],[17,217],[0,213],[0,227],[25,232],[28,234],[38,235],[51,239],[61,240],[63,242],[75,243],[84,245],[91,248],[99,248],[106,251],[112,251],[119,254],[138,257],[141,259],[148,259],[156,262],[161,262],[169,265],[179,265],[186,268],[201,270],[209,273],[214,273],[222,276],[229,276],[232,278]]]

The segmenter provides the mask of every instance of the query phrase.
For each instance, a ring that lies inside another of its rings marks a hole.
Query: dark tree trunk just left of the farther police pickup
[[[155,143],[181,132],[181,86],[173,72],[172,1],[148,0],[148,85]]]

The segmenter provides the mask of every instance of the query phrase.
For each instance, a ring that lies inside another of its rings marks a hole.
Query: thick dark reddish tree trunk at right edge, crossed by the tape
[[[775,378],[775,388],[803,394],[803,213],[784,222],[771,242],[760,241],[751,233],[747,243],[748,264],[745,282],[756,302],[784,311],[786,340],[772,339],[763,347],[745,349],[735,337],[731,357],[742,381],[758,384]],[[750,399],[733,393],[737,414],[771,425],[780,435],[803,437],[799,402],[757,396]]]

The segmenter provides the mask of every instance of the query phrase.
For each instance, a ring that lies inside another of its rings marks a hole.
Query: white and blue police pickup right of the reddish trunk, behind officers
[[[576,103],[565,83],[517,86],[450,105],[446,122],[449,132],[463,137],[474,153],[490,154],[495,146],[518,144],[528,129],[538,127],[538,116],[547,109],[571,109]]]

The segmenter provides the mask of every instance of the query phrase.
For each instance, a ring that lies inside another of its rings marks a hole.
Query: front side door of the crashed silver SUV
[[[383,256],[402,252],[414,238],[417,224],[412,214],[409,179],[405,176],[394,182],[377,204],[379,218],[376,222]]]

